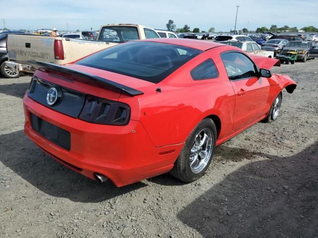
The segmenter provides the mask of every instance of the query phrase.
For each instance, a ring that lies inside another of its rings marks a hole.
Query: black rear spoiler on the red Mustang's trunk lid
[[[119,92],[119,93],[124,93],[124,94],[127,94],[127,95],[132,96],[132,97],[136,96],[136,95],[144,94],[144,92],[139,91],[137,89],[125,86],[125,85],[120,84],[120,83],[116,83],[114,81],[111,81],[111,80],[108,80],[106,78],[102,78],[102,77],[99,77],[99,76],[96,76],[96,75],[93,75],[90,73],[71,69],[71,68],[68,68],[67,66],[58,65],[58,64],[54,64],[54,63],[44,63],[44,62],[39,62],[36,60],[29,60],[27,63],[31,64],[36,69],[39,69],[39,68],[49,69],[49,70],[54,70],[57,72],[69,73],[72,75],[77,75],[79,77],[87,78],[87,79],[90,79],[90,80],[93,80],[95,82],[102,84],[103,86],[105,86],[106,89],[109,89],[109,90],[115,91],[115,92]]]

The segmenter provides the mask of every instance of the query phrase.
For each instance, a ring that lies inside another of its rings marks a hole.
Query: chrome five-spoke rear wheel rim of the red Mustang
[[[213,141],[212,130],[204,128],[195,137],[190,151],[190,170],[194,174],[200,173],[209,163]]]

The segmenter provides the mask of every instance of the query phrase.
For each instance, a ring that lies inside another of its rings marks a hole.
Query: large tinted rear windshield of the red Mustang
[[[110,47],[76,64],[159,83],[202,51],[157,42],[129,42]]]

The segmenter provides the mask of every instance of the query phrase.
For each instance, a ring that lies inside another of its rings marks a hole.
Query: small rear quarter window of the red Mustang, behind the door
[[[218,69],[211,59],[205,60],[203,63],[200,63],[198,66],[191,70],[190,74],[193,80],[203,80],[219,77]]]

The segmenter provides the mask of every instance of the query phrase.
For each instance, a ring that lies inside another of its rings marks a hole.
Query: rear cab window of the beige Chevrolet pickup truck
[[[99,34],[99,41],[126,42],[139,40],[137,27],[134,26],[105,26]]]

